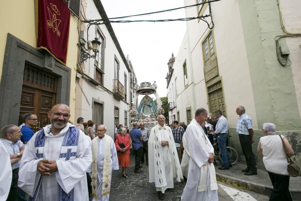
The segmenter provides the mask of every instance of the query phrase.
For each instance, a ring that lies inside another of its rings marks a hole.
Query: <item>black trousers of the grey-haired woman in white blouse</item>
[[[270,176],[272,185],[274,187],[269,200],[291,201],[292,197],[290,196],[290,190],[288,189],[290,184],[290,176],[275,174],[272,172],[268,172],[268,176]]]

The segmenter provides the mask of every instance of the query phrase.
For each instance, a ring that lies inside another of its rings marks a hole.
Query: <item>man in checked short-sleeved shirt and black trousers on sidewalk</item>
[[[246,109],[244,106],[238,106],[236,108],[236,113],[239,115],[236,124],[236,132],[239,136],[241,149],[247,161],[247,168],[241,171],[244,172],[244,175],[256,175],[256,159],[252,151],[252,143],[254,142],[252,119],[245,112]]]

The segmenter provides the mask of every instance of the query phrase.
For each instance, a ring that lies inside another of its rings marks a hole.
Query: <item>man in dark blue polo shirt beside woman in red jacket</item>
[[[140,130],[138,130],[137,122],[133,123],[133,129],[130,131],[130,137],[132,140],[132,147],[135,152],[135,170],[134,170],[134,172],[141,173],[143,171],[139,170],[139,168],[142,168],[142,166],[140,166],[140,162],[141,162],[142,147],[143,147],[142,139],[143,139],[144,135],[142,135]]]

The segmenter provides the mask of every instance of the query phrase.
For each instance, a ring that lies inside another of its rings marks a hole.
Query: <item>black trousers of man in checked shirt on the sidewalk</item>
[[[250,169],[251,172],[257,172],[256,159],[252,151],[252,137],[250,135],[239,134],[239,142],[247,161],[247,168]]]

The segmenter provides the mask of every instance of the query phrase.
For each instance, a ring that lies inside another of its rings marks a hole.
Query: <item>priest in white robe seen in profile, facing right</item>
[[[197,109],[195,118],[187,126],[185,132],[185,150],[187,152],[185,156],[190,156],[190,159],[187,183],[181,201],[219,200],[213,165],[214,149],[200,126],[205,122],[207,114],[204,108]],[[183,157],[185,156],[183,155]],[[185,161],[187,160],[182,159],[182,163]]]

